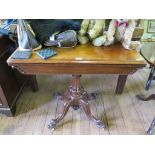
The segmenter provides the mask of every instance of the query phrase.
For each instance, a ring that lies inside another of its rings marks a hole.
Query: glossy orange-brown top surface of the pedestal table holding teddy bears
[[[30,59],[12,59],[7,60],[9,65],[12,64],[133,64],[144,65],[145,61],[142,56],[135,50],[126,50],[120,44],[109,47],[95,47],[90,44],[78,45],[74,48],[53,48],[57,55],[47,60],[41,59],[35,51],[32,52]]]

